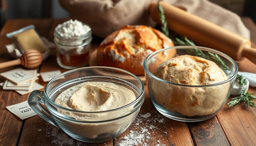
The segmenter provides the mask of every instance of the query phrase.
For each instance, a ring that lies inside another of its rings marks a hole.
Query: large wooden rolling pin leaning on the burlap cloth
[[[240,61],[246,57],[256,64],[256,49],[251,48],[250,40],[163,1],[160,3],[165,11],[167,25],[172,31],[201,46],[226,53],[234,60]],[[154,21],[162,25],[157,3],[151,3],[148,10]]]

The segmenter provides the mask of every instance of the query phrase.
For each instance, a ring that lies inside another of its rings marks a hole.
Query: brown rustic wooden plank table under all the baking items
[[[250,18],[242,18],[244,24],[251,31],[251,41],[253,47],[256,48],[256,26]],[[52,20],[52,19],[14,19],[8,20],[3,26],[0,32],[0,62],[11,60],[6,52],[5,45],[12,43],[11,39],[8,39],[5,35],[8,32],[17,30],[24,26],[33,24],[36,30],[41,36],[47,37],[52,41],[54,28],[65,20]],[[102,39],[95,38],[92,42],[92,47],[96,48]],[[245,59],[239,64],[240,71],[248,71],[256,73],[256,65]],[[20,66],[12,66],[4,69],[0,69],[1,72],[9,71]],[[53,53],[42,65],[37,68],[38,72],[61,70],[65,72],[67,70],[61,69],[56,62],[56,56]],[[4,81],[3,77],[0,77],[0,82]],[[46,82],[43,82],[41,77],[37,81],[41,85],[45,86]],[[250,87],[249,92],[256,93],[256,88]],[[54,128],[52,125],[48,125],[45,120],[38,115],[20,120],[10,113],[5,107],[13,104],[17,104],[27,100],[29,94],[19,95],[14,91],[0,90],[0,145],[4,146],[36,146],[36,145],[117,145],[121,138],[129,133],[127,129],[120,137],[105,142],[105,143],[86,143],[80,142],[67,136],[62,130]],[[231,97],[228,101],[230,101]],[[151,112],[152,116],[158,115],[164,118],[165,122],[155,128],[155,134],[151,132],[151,138],[145,141],[148,145],[157,145],[156,140],[160,140],[161,144],[169,146],[178,145],[256,145],[256,108],[244,107],[243,104],[237,107],[230,108],[225,105],[224,108],[217,114],[217,116],[202,122],[180,122],[168,119],[158,112],[154,112],[156,109],[148,95],[148,91],[145,91],[145,102],[140,110],[141,114]],[[130,127],[134,129],[135,123]],[[41,129],[42,131],[40,131]],[[55,130],[55,131],[54,131]],[[50,136],[51,132],[56,132],[59,135],[58,139]],[[162,134],[161,134],[162,133]],[[163,134],[167,133],[167,134]],[[56,141],[62,141],[57,143]]]

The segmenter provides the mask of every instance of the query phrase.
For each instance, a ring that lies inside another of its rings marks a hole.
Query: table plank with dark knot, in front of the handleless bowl
[[[218,119],[214,116],[211,119],[201,122],[188,123],[196,145],[229,145]]]

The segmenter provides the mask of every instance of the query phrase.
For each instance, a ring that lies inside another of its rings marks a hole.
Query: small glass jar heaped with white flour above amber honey
[[[88,65],[92,31],[89,25],[69,20],[54,30],[57,63],[64,69],[76,69]]]

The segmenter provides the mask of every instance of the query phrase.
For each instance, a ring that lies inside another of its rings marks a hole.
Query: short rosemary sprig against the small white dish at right
[[[244,102],[244,105],[247,107],[256,107],[255,103],[253,102],[253,99],[256,99],[256,97],[252,96],[252,93],[246,92],[245,80],[246,79],[243,78],[242,75],[237,75],[236,82],[238,82],[242,89],[240,91],[240,96],[232,98],[232,101],[228,103],[229,107],[233,107],[234,105],[237,105],[240,102]]]

